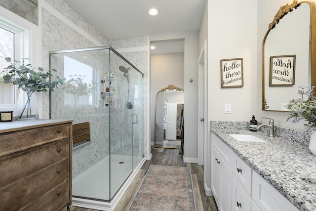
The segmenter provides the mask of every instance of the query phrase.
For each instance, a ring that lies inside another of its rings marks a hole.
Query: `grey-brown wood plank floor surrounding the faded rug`
[[[122,196],[114,211],[128,211],[133,198],[141,185],[150,165],[190,167],[193,179],[193,188],[196,198],[197,211],[218,211],[214,197],[206,196],[204,192],[203,167],[197,164],[183,163],[178,149],[152,148],[153,158],[146,161],[136,177]],[[85,208],[72,207],[72,211],[97,211]]]

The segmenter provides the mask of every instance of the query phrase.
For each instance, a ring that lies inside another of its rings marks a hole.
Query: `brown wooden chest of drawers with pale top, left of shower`
[[[72,121],[0,123],[0,210],[70,210]]]

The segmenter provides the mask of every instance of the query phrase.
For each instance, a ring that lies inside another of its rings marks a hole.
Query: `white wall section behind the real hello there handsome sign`
[[[208,119],[249,121],[257,116],[257,1],[208,2]],[[243,87],[221,88],[220,60],[243,58]],[[224,113],[226,103],[232,114]]]

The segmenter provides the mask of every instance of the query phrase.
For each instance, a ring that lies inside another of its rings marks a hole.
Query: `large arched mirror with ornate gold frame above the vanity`
[[[313,1],[281,6],[262,42],[262,110],[286,111],[299,86],[316,85]]]

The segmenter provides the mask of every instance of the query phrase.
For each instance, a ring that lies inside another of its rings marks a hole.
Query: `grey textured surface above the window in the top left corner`
[[[38,25],[38,0],[1,0],[0,6]]]

